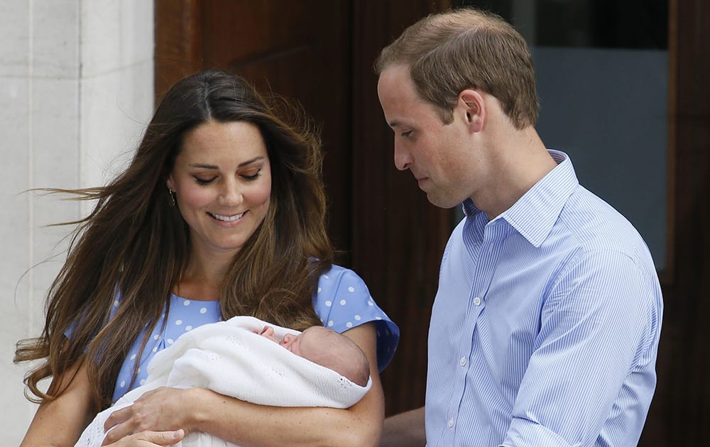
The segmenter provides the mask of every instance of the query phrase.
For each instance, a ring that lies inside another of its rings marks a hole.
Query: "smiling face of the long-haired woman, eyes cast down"
[[[246,121],[207,121],[185,134],[168,177],[191,250],[236,255],[261,225],[271,165],[261,132]]]

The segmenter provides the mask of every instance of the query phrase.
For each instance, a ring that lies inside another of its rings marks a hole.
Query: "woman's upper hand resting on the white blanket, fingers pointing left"
[[[109,430],[104,438],[104,446],[113,446],[116,441],[131,436],[145,434],[146,432],[173,432],[182,429],[190,431],[187,409],[190,409],[190,390],[160,387],[148,391],[133,402],[130,407],[122,408],[111,413],[104,424],[104,430]],[[183,435],[184,436],[184,435]],[[133,438],[138,443],[120,443],[116,446],[141,446],[143,438]],[[173,440],[172,443],[178,442]],[[154,442],[154,441],[153,441]],[[160,444],[158,446],[170,445]]]

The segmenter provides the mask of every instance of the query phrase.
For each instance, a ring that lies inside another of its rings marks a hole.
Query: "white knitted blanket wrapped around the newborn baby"
[[[104,422],[117,409],[128,407],[144,392],[158,387],[203,387],[247,402],[278,407],[347,408],[369,390],[333,370],[299,357],[266,337],[253,333],[265,326],[251,316],[205,324],[184,333],[155,354],[148,379],[112,407],[97,414],[77,447],[99,447]],[[297,331],[274,326],[277,338]],[[187,434],[176,446],[234,446],[204,433]]]

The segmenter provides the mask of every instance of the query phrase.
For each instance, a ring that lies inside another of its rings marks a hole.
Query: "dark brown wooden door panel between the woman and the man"
[[[387,414],[424,404],[429,319],[452,216],[427,201],[411,172],[395,168],[372,65],[405,27],[448,7],[447,1],[354,3],[353,267],[400,327],[398,351],[382,374]]]

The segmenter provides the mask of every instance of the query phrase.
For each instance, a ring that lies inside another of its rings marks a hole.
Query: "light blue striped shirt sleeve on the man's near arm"
[[[568,267],[542,307],[501,445],[595,445],[608,435],[605,421],[621,413],[638,417],[618,417],[611,437],[638,439],[655,386],[656,297],[648,275],[623,253],[586,253]]]

